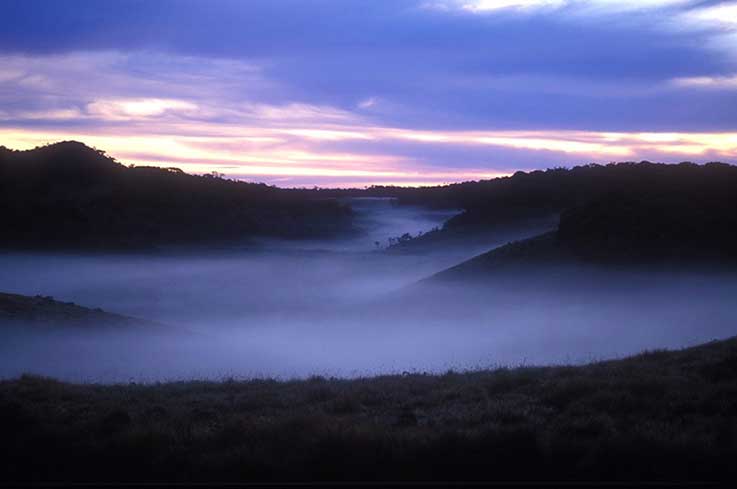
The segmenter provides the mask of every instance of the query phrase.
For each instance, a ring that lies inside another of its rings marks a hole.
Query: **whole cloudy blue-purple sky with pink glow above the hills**
[[[273,185],[737,163],[737,2],[2,0],[0,145]]]

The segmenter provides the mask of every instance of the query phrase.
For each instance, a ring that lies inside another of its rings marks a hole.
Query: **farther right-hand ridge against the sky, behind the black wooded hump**
[[[638,212],[687,214],[692,212],[689,206],[696,204],[705,216],[710,205],[737,209],[737,167],[650,162],[586,165],[517,172],[511,177],[425,189],[424,193],[416,189],[399,198],[400,202],[415,203],[424,199],[429,205],[442,204],[464,212],[441,230],[403,242],[398,249],[422,250],[479,240],[492,244],[515,233],[519,239],[526,230],[553,230],[558,215],[595,201],[610,205],[634,198],[640,200],[636,203]],[[614,212],[623,210],[618,206]],[[573,221],[569,218],[569,222]]]

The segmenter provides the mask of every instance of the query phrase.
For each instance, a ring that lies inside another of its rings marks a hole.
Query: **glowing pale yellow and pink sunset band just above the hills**
[[[365,185],[421,186],[511,175],[516,169],[494,171],[423,169],[421,162],[391,155],[330,152],[329,145],[314,144],[302,150],[289,135],[306,129],[274,129],[269,136],[105,135],[100,133],[13,132],[0,129],[0,137],[12,149],[32,149],[53,142],[77,140],[105,150],[121,163],[179,167],[188,173],[217,171],[228,178],[267,182],[282,186],[345,187]],[[225,131],[227,132],[227,131]],[[246,131],[249,132],[250,131]],[[333,131],[337,132],[337,131]],[[639,161],[638,155],[676,154],[678,161],[701,159],[711,151],[737,152],[737,133],[585,133],[578,131],[524,132],[431,132],[366,128],[348,139],[369,139],[376,144],[391,140],[415,141],[420,145],[486,146],[532,151],[555,149],[569,155],[572,164],[607,161]],[[283,135],[282,138],[279,136]],[[299,140],[310,143],[310,136]],[[317,138],[320,139],[319,137]],[[336,139],[340,139],[339,137]],[[284,145],[284,147],[281,147]],[[242,149],[238,149],[241,147]],[[599,158],[597,158],[599,156]],[[608,157],[609,160],[602,160]],[[645,158],[647,159],[647,158]]]

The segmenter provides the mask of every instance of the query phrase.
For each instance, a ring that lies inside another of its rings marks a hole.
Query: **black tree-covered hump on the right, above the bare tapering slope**
[[[561,243],[590,261],[737,259],[737,182],[610,193],[566,210]]]

